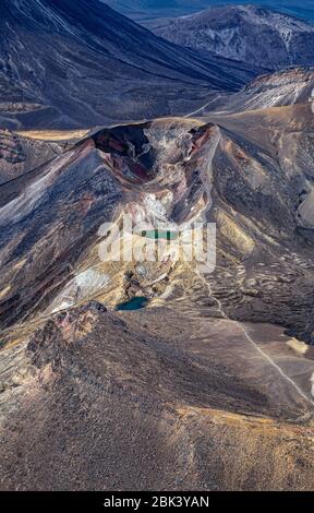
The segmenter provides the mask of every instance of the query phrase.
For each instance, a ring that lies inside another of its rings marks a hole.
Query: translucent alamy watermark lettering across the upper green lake
[[[134,224],[124,214],[117,223],[104,223],[98,231],[102,262],[193,262],[201,273],[216,266],[216,224],[192,223],[181,227],[160,223]]]

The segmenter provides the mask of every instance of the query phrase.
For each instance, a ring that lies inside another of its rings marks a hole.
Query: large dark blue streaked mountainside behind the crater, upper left
[[[200,58],[98,0],[3,0],[0,121],[86,127],[186,112],[252,68]]]

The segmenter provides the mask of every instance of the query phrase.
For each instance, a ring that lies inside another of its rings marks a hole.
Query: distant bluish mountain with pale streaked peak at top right
[[[251,64],[280,69],[314,63],[314,26],[254,5],[227,5],[152,22],[172,43]]]

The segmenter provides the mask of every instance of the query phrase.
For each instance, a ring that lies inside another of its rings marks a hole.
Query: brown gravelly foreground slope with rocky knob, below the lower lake
[[[281,378],[242,344],[167,308],[56,314],[1,351],[1,490],[312,490],[310,406],[271,401]]]

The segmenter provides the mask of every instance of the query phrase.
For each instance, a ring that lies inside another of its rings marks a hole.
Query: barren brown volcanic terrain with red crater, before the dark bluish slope
[[[269,99],[301,74],[259,80],[269,106],[69,139],[0,186],[2,489],[313,488],[314,118],[310,90]],[[215,272],[101,261],[123,213],[179,239],[215,222]]]

